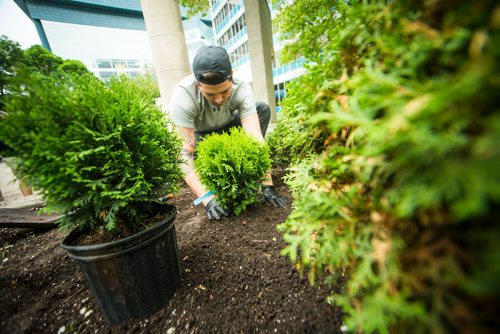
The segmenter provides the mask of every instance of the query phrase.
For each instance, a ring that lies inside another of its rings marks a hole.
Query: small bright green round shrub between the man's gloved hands
[[[201,182],[237,216],[259,201],[270,166],[267,145],[242,128],[211,134],[196,144],[195,169]]]

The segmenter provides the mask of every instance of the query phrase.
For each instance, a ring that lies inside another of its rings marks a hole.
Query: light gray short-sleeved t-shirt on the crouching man
[[[174,124],[196,132],[224,127],[234,119],[236,110],[240,119],[257,113],[250,84],[236,78],[233,78],[233,90],[228,101],[221,107],[214,107],[201,95],[192,74],[175,87],[170,101],[170,115]]]

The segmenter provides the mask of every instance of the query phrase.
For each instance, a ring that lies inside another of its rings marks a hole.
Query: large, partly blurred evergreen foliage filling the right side
[[[283,254],[311,282],[347,277],[328,300],[353,330],[498,326],[500,6],[296,0],[278,19],[310,61],[272,137]]]

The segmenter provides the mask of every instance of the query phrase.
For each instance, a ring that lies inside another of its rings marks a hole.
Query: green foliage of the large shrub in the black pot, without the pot
[[[131,234],[178,189],[180,140],[130,79],[20,69],[9,91],[1,140],[47,210],[63,214],[61,228]]]

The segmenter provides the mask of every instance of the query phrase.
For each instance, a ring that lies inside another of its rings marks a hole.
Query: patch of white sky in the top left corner
[[[21,44],[23,49],[42,44],[35,24],[24,14],[14,0],[0,0],[0,35]]]

